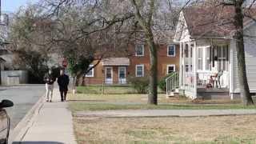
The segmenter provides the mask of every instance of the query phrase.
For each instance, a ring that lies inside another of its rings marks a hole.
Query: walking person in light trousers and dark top
[[[52,70],[49,70],[48,73],[45,74],[44,76],[44,81],[46,82],[46,102],[51,102],[53,98],[53,93],[54,93],[54,74]],[[49,98],[50,95],[50,98]]]

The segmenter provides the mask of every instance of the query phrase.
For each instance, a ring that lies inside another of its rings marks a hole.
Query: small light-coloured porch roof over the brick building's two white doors
[[[129,58],[104,58],[102,60],[103,66],[129,66]]]

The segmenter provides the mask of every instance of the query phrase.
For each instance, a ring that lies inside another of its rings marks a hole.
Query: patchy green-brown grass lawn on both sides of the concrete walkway
[[[147,94],[135,94],[129,86],[78,87],[69,94],[74,133],[83,143],[256,143],[255,115],[192,118],[91,118],[78,111],[94,110],[226,110],[256,109],[240,100],[191,101],[158,94],[158,106],[147,105]]]

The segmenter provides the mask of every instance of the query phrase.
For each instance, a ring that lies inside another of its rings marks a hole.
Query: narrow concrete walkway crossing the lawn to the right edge
[[[76,116],[86,118],[130,118],[130,117],[200,117],[256,114],[256,110],[105,110],[81,111]]]

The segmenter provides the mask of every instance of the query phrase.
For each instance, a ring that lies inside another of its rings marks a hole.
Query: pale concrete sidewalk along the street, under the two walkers
[[[44,102],[27,126],[13,143],[76,144],[72,115],[67,102],[60,102],[60,95],[54,89],[53,102]]]

